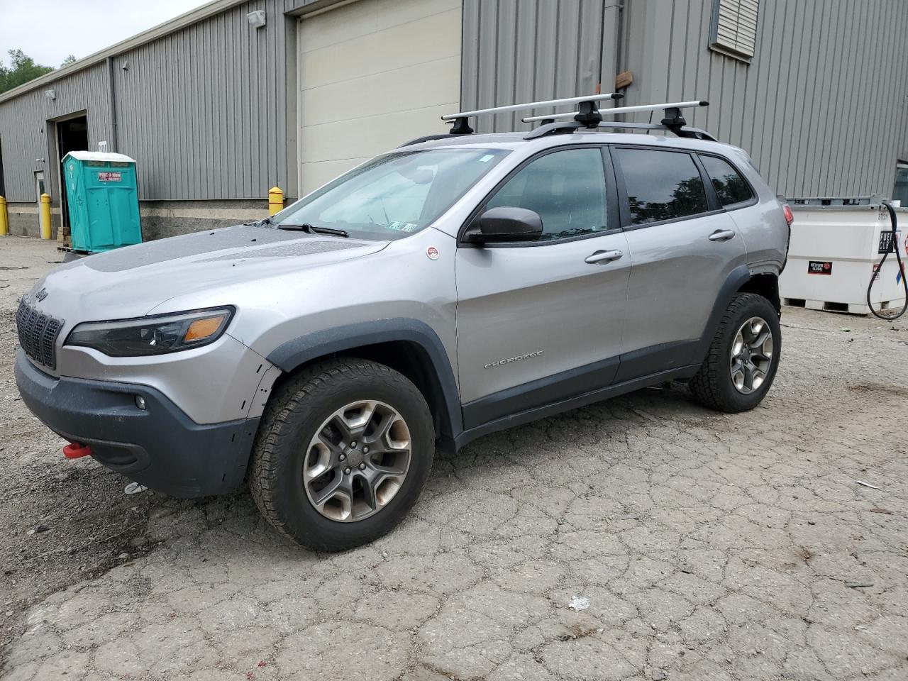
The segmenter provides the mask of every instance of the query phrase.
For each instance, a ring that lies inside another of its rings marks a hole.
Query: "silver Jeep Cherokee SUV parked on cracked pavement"
[[[706,133],[602,125],[410,143],[262,222],[64,264],[17,313],[23,400],[69,456],[248,481],[324,550],[394,527],[439,448],[666,380],[753,409],[785,207]]]

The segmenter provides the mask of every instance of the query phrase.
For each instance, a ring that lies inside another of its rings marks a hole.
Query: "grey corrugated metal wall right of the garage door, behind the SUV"
[[[466,0],[463,104],[585,94],[601,46],[603,64],[614,51],[617,71],[634,74],[621,104],[708,100],[689,122],[743,147],[777,192],[891,193],[897,158],[908,160],[908,3],[761,0],[749,65],[708,49],[712,4],[625,0],[616,40],[602,30],[613,0]],[[604,90],[614,76],[601,74]],[[504,116],[483,123],[514,129]]]

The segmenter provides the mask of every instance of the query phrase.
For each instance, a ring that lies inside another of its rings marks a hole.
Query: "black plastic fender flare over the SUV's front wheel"
[[[308,361],[339,352],[356,350],[380,343],[405,341],[419,346],[424,353],[420,370],[428,371],[432,395],[427,399],[441,405],[440,423],[449,432],[439,432],[441,439],[454,439],[463,430],[460,413],[460,393],[448,352],[438,334],[424,321],[410,318],[391,318],[361,321],[355,324],[313,331],[281,343],[268,354],[268,361],[282,371],[292,371]]]

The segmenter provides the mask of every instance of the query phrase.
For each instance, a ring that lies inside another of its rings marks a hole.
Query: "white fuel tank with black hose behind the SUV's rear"
[[[892,227],[881,197],[788,199],[792,223],[788,263],[779,279],[785,305],[809,310],[869,314],[867,284],[873,272],[874,310],[901,308],[905,292],[894,254],[879,271]],[[896,248],[908,256],[903,235],[908,209],[896,208]]]

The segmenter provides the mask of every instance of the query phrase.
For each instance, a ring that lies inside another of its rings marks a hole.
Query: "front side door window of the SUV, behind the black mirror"
[[[539,213],[542,239],[606,229],[606,175],[598,149],[548,153],[529,163],[486,204]]]

